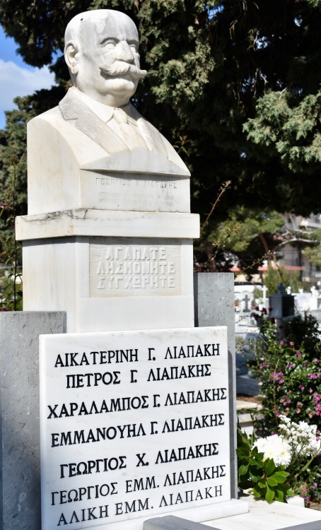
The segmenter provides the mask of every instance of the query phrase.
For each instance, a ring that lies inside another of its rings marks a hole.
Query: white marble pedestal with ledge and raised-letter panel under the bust
[[[194,325],[190,213],[23,216],[24,310],[66,311],[69,332]]]

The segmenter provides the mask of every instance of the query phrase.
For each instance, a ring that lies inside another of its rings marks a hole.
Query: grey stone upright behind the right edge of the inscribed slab
[[[195,326],[228,326],[230,389],[230,494],[238,498],[236,460],[235,306],[233,273],[194,273]]]

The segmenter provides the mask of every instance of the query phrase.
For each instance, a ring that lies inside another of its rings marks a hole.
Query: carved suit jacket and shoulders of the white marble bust
[[[81,182],[94,182],[95,175],[189,179],[175,148],[132,105],[130,112],[146,146],[129,149],[76,88],[69,88],[59,106],[30,120],[28,213],[79,208],[86,204]]]

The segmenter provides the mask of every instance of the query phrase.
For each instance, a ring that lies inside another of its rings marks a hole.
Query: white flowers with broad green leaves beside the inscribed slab
[[[255,439],[238,429],[238,485],[267,502],[294,495],[293,488],[320,452],[317,426],[279,416],[279,435]]]

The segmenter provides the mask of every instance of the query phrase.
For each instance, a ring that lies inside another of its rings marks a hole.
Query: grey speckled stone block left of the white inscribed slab
[[[0,527],[40,530],[38,336],[65,333],[63,312],[1,312]]]

